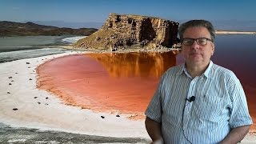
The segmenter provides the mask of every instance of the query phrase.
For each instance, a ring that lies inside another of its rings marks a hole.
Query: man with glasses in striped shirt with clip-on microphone
[[[183,23],[178,30],[185,63],[162,75],[146,109],[152,143],[237,143],[252,119],[235,74],[210,61],[215,30],[205,20]]]

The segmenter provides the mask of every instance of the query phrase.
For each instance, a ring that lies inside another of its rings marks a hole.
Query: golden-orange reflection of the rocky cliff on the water
[[[95,58],[110,77],[159,78],[164,71],[176,65],[174,52],[164,53],[106,53],[85,54]]]

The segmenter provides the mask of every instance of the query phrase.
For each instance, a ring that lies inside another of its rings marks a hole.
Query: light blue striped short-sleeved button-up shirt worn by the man
[[[218,143],[232,128],[252,124],[238,78],[211,61],[195,78],[185,64],[166,70],[145,114],[162,123],[165,143]]]

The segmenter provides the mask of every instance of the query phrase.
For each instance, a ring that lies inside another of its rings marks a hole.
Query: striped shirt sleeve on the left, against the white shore
[[[162,81],[163,81],[164,76],[160,79],[160,82],[158,84],[158,88],[154,93],[153,98],[150,101],[149,106],[146,109],[146,117],[154,120],[155,122],[162,122]]]

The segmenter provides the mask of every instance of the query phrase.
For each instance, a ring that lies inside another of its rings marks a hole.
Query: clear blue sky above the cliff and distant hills
[[[116,13],[175,22],[206,19],[219,26],[240,22],[240,27],[254,28],[255,7],[255,0],[0,0],[0,21],[101,25]]]

